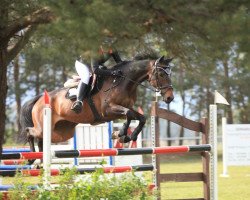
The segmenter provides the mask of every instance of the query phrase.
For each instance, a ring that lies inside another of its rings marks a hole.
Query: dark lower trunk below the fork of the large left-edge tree
[[[7,97],[7,63],[6,63],[7,50],[0,48],[0,154],[2,154],[2,145],[5,133],[5,106]]]

